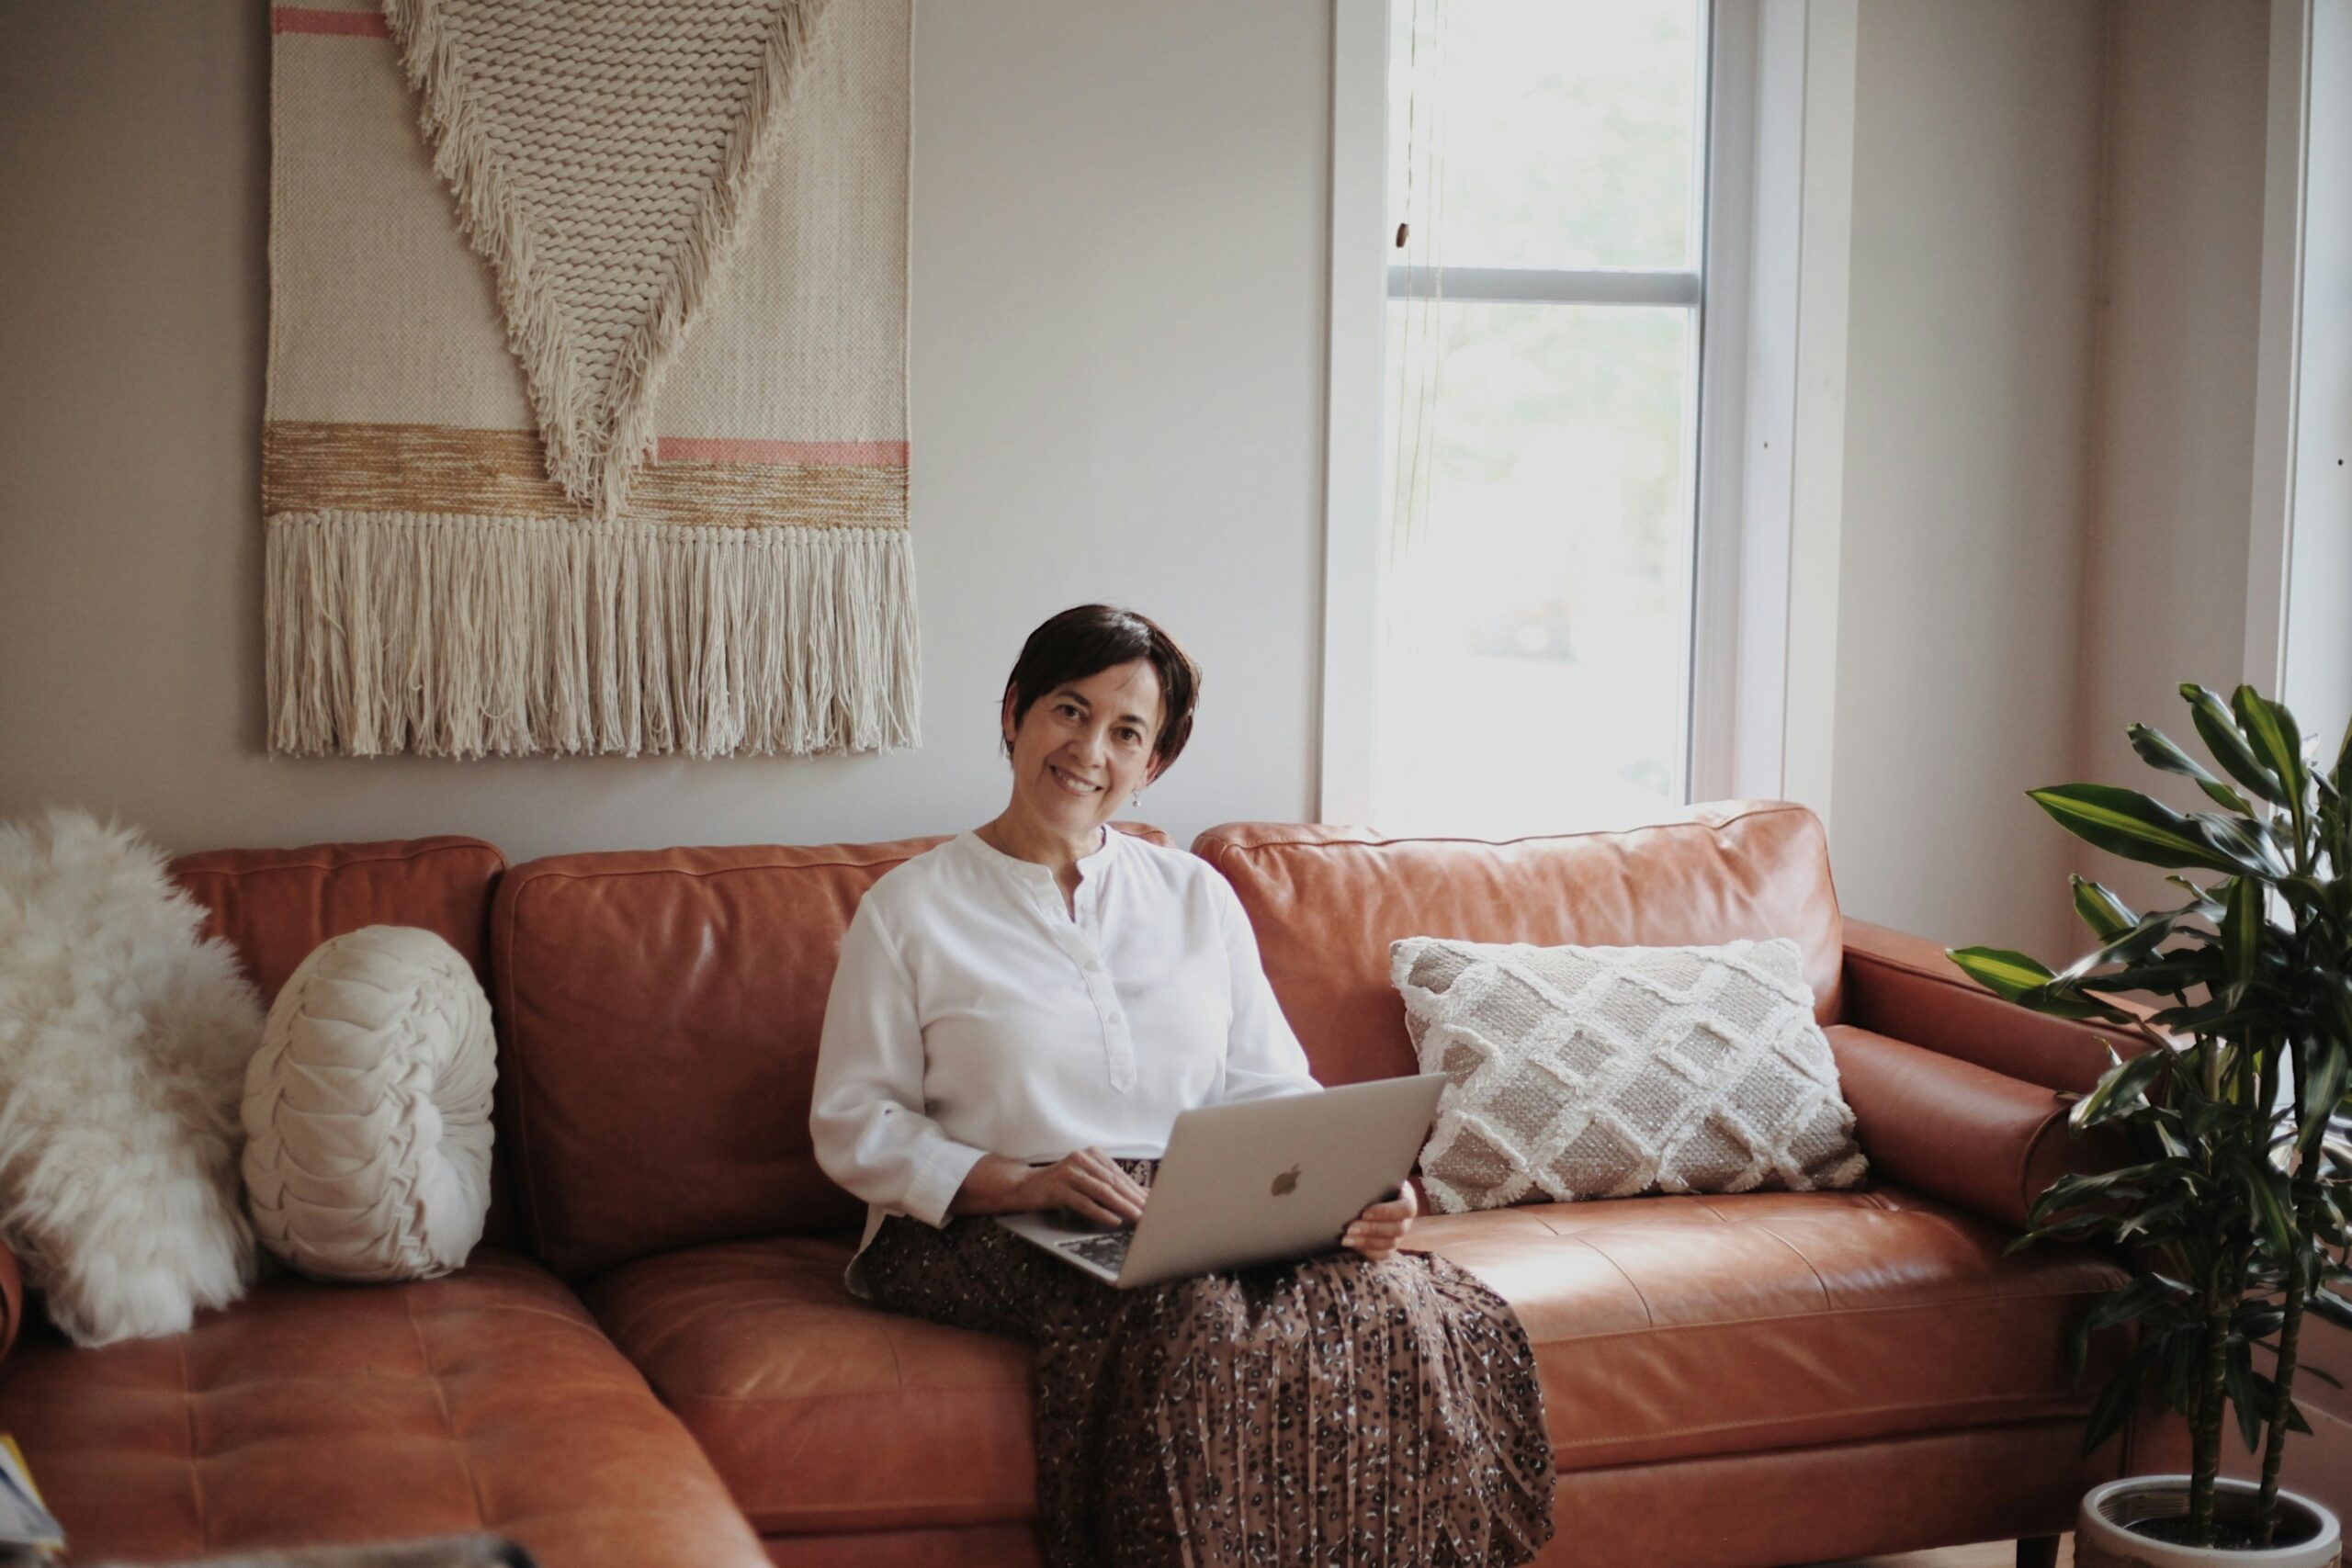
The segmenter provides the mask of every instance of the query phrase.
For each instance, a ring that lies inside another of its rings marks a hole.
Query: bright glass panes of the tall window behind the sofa
[[[1710,42],[1705,0],[1390,0],[1383,827],[1689,799]]]

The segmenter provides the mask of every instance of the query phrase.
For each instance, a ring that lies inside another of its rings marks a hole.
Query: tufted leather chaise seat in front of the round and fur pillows
[[[85,1563],[461,1530],[562,1568],[767,1563],[579,1300],[501,1253],[419,1284],[266,1284],[165,1340],[28,1333],[0,1429]]]

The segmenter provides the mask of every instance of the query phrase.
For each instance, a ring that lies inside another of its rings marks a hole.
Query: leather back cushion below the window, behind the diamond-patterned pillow
[[[1804,954],[1813,1016],[1837,1020],[1837,891],[1820,820],[1804,806],[1719,802],[1656,827],[1503,844],[1228,823],[1192,853],[1242,896],[1265,978],[1324,1084],[1416,1070],[1388,978],[1388,945],[1404,936],[1538,947],[1788,936]]]

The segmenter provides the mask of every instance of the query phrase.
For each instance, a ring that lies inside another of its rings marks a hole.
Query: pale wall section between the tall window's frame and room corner
[[[1945,943],[2065,924],[2098,71],[2096,0],[1860,7],[1832,860]]]

